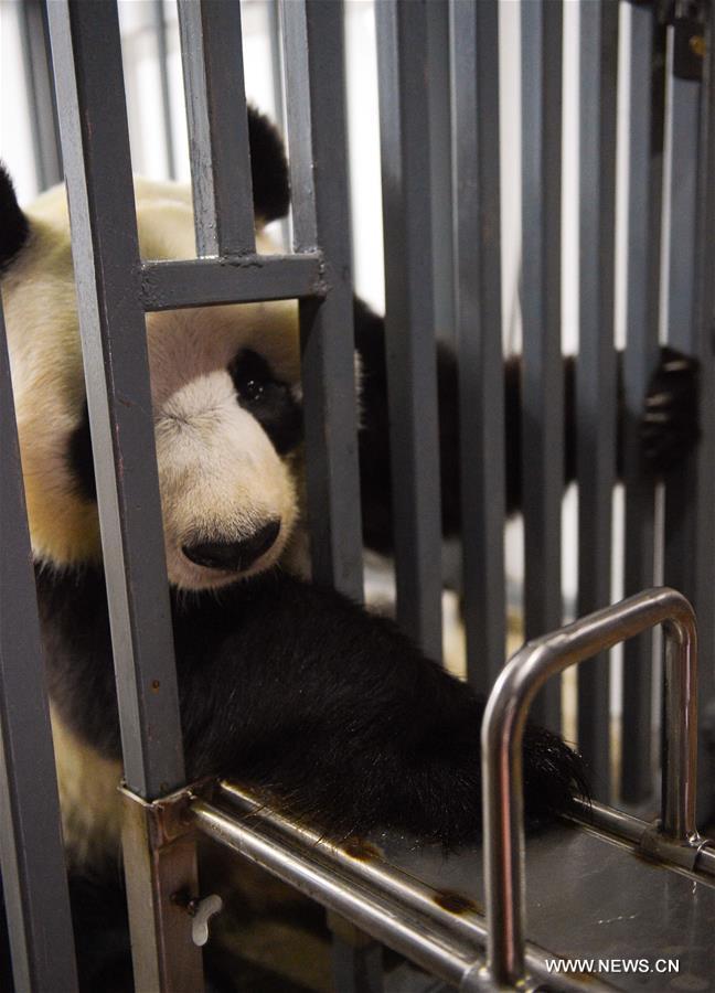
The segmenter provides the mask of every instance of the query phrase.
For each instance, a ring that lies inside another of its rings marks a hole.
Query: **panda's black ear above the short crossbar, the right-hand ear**
[[[264,224],[285,217],[290,205],[288,160],[276,126],[255,107],[248,107],[250,178],[254,213]]]

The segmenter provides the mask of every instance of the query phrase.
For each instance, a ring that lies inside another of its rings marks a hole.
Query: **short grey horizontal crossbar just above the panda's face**
[[[141,302],[147,311],[322,298],[326,289],[319,252],[146,261],[141,266]]]

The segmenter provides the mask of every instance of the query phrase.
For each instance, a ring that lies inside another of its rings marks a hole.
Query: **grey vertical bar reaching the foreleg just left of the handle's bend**
[[[467,671],[488,691],[504,631],[504,374],[495,0],[452,3],[456,320]]]

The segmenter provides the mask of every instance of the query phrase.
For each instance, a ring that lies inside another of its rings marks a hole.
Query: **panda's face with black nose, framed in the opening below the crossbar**
[[[296,306],[151,314],[148,344],[170,580],[268,568],[298,516]]]

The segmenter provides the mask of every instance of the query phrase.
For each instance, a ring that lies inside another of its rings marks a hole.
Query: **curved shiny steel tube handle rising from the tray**
[[[696,654],[693,608],[673,589],[650,589],[530,641],[504,666],[482,724],[488,962],[498,984],[524,975],[522,737],[534,696],[551,676],[662,623],[666,756],[661,830],[689,844],[695,832]]]

